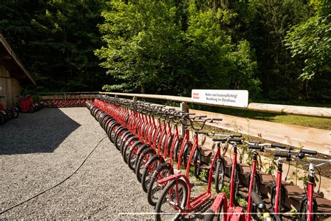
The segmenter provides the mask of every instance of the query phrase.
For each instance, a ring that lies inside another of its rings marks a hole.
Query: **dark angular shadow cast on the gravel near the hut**
[[[80,124],[58,108],[20,113],[0,125],[0,155],[53,152]]]

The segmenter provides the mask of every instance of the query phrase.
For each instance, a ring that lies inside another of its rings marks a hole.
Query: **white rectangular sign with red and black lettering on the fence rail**
[[[247,90],[192,90],[192,101],[247,108]]]

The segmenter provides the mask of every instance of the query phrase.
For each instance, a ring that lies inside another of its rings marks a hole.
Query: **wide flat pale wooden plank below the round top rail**
[[[196,113],[196,115],[223,118],[223,121],[220,122],[207,123],[212,127],[227,129],[275,143],[283,143],[307,150],[316,150],[322,154],[331,155],[331,131],[329,130],[252,120],[202,110],[190,109],[189,112]]]

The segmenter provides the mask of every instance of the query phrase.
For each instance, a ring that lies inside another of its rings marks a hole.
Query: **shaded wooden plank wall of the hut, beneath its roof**
[[[18,80],[10,78],[10,73],[0,64],[0,102],[10,107],[18,103],[21,87]]]

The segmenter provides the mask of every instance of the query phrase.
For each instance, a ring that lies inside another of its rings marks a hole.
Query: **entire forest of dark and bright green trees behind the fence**
[[[330,104],[330,0],[12,0],[0,33],[36,92],[111,90]]]

